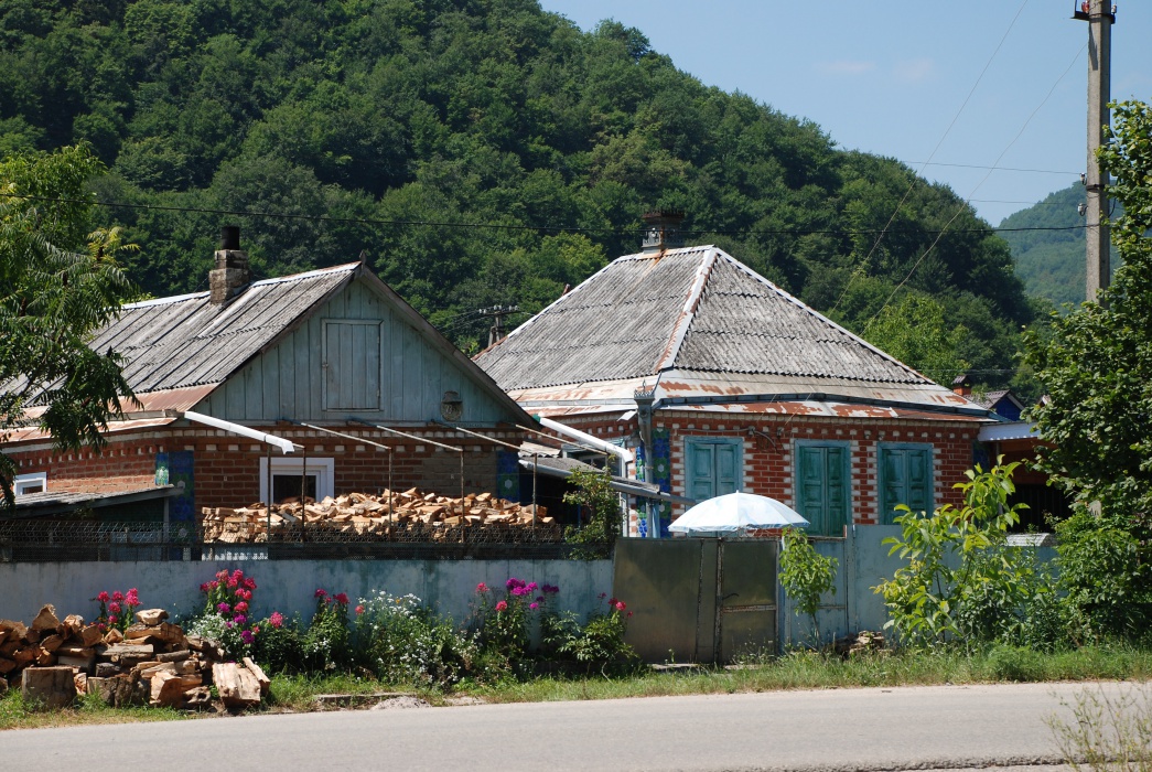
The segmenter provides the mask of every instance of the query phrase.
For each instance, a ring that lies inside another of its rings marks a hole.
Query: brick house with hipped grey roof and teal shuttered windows
[[[651,215],[621,257],[476,357],[525,410],[644,445],[649,480],[706,499],[743,490],[812,532],[956,502],[996,417],[816,312],[717,247]],[[679,506],[664,505],[661,530]],[[637,523],[646,532],[646,523]]]

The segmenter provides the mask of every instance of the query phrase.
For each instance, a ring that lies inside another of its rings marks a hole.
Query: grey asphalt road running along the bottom
[[[0,733],[9,770],[945,770],[1053,765],[1079,684],[840,689]],[[1089,688],[1098,688],[1096,686]],[[1108,690],[1116,684],[1105,684]]]

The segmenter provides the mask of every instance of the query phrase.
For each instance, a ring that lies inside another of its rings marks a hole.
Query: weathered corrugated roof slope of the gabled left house
[[[136,394],[220,384],[358,265],[257,281],[225,305],[213,305],[209,293],[132,303],[91,347],[128,359],[124,378]]]

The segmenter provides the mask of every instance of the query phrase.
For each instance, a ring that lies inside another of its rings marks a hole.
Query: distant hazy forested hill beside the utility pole
[[[1000,224],[1028,294],[1056,306],[1084,302],[1084,218],[1076,209],[1084,200],[1084,186],[1077,182]],[[1112,267],[1116,267],[1115,250]]]

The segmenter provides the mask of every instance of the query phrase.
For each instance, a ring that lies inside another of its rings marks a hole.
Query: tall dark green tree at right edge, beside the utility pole
[[[1112,240],[1123,265],[1100,303],[1084,303],[1030,332],[1025,363],[1048,400],[1031,411],[1045,439],[1041,466],[1082,505],[1099,502],[1109,524],[1152,513],[1152,108],[1115,106],[1100,153],[1123,207]],[[1094,507],[1093,507],[1094,508]]]

